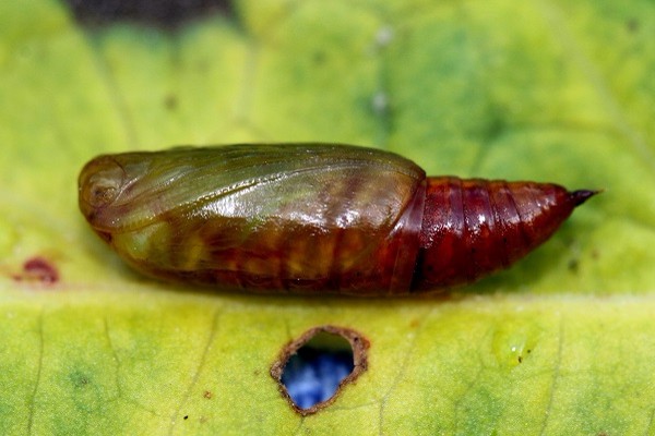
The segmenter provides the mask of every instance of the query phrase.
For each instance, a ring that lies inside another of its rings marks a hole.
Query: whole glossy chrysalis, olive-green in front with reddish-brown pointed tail
[[[80,208],[148,276],[253,292],[439,291],[507,268],[595,191],[428,177],[333,144],[178,147],[99,156]]]

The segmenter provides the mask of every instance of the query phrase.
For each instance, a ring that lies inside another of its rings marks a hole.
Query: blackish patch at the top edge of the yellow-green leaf
[[[75,19],[84,24],[132,21],[163,27],[212,13],[233,15],[229,0],[67,0]]]

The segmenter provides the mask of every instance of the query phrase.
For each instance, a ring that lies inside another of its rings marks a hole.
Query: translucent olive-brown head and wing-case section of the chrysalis
[[[139,270],[250,291],[408,290],[425,172],[377,149],[230,145],[99,156],[80,208]]]

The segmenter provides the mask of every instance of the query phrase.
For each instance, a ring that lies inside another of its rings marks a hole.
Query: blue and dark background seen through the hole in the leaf
[[[350,351],[302,347],[285,365],[282,383],[298,408],[309,409],[332,397],[353,368]]]

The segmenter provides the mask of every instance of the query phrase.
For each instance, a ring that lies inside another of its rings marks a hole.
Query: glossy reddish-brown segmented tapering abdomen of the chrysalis
[[[593,194],[550,183],[428,178],[413,290],[464,284],[507,268]]]

